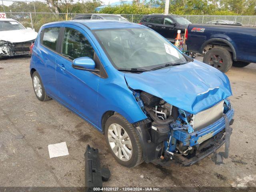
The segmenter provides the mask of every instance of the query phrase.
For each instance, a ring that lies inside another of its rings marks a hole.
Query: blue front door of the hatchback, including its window
[[[76,26],[64,30],[60,55],[56,57],[56,80],[59,98],[66,106],[96,124],[98,84],[100,76],[94,72],[74,69],[76,58],[95,58],[96,53],[88,41],[88,35]]]

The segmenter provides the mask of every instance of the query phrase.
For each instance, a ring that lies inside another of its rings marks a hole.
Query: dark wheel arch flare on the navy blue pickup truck
[[[206,42],[204,42],[204,44],[202,44],[201,48],[200,48],[200,53],[202,53],[204,51],[204,48],[207,45],[217,45],[217,46],[228,46],[228,48],[230,48],[230,52],[232,52],[232,56],[233,56],[233,60],[236,61],[236,50],[234,48],[234,46],[225,39],[222,38],[212,38],[210,40],[207,40]]]

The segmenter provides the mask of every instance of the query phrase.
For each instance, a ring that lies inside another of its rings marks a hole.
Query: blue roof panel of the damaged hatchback
[[[146,28],[145,26],[140,24],[124,22],[124,21],[114,21],[114,20],[70,20],[70,21],[48,23],[48,24],[44,24],[44,26],[48,26],[51,24],[82,24],[87,28],[89,28],[90,30],[113,29],[113,28]]]

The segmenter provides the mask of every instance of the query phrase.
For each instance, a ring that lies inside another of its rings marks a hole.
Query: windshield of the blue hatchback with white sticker
[[[147,28],[121,28],[94,32],[117,69],[152,70],[186,58],[170,42]]]

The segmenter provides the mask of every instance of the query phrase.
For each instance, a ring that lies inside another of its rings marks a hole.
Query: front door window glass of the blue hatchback
[[[62,55],[72,60],[79,57],[90,57],[93,59],[94,49],[81,32],[72,28],[65,28]]]

